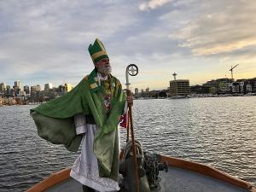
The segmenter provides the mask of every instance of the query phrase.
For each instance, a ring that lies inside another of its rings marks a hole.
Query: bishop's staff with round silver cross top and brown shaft
[[[136,76],[138,73],[138,68],[135,64],[130,64],[126,67],[126,95],[131,96],[131,90],[129,88],[129,75]],[[136,146],[134,139],[134,131],[133,131],[133,123],[132,123],[132,113],[131,113],[131,103],[128,103],[128,127],[127,127],[127,142],[129,140],[129,126],[131,127],[131,142],[132,142],[132,154],[133,154],[133,165],[134,165],[134,173],[137,180],[137,192],[139,192],[139,179],[137,174],[137,157],[136,157]]]

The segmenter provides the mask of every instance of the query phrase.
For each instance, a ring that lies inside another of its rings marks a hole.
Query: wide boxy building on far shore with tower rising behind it
[[[188,79],[170,81],[170,96],[188,96],[190,94]]]

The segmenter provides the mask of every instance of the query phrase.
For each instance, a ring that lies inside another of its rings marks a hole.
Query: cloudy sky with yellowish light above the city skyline
[[[89,44],[105,45],[113,75],[131,88],[166,89],[256,77],[253,0],[0,1],[0,83],[78,84],[94,68]]]

